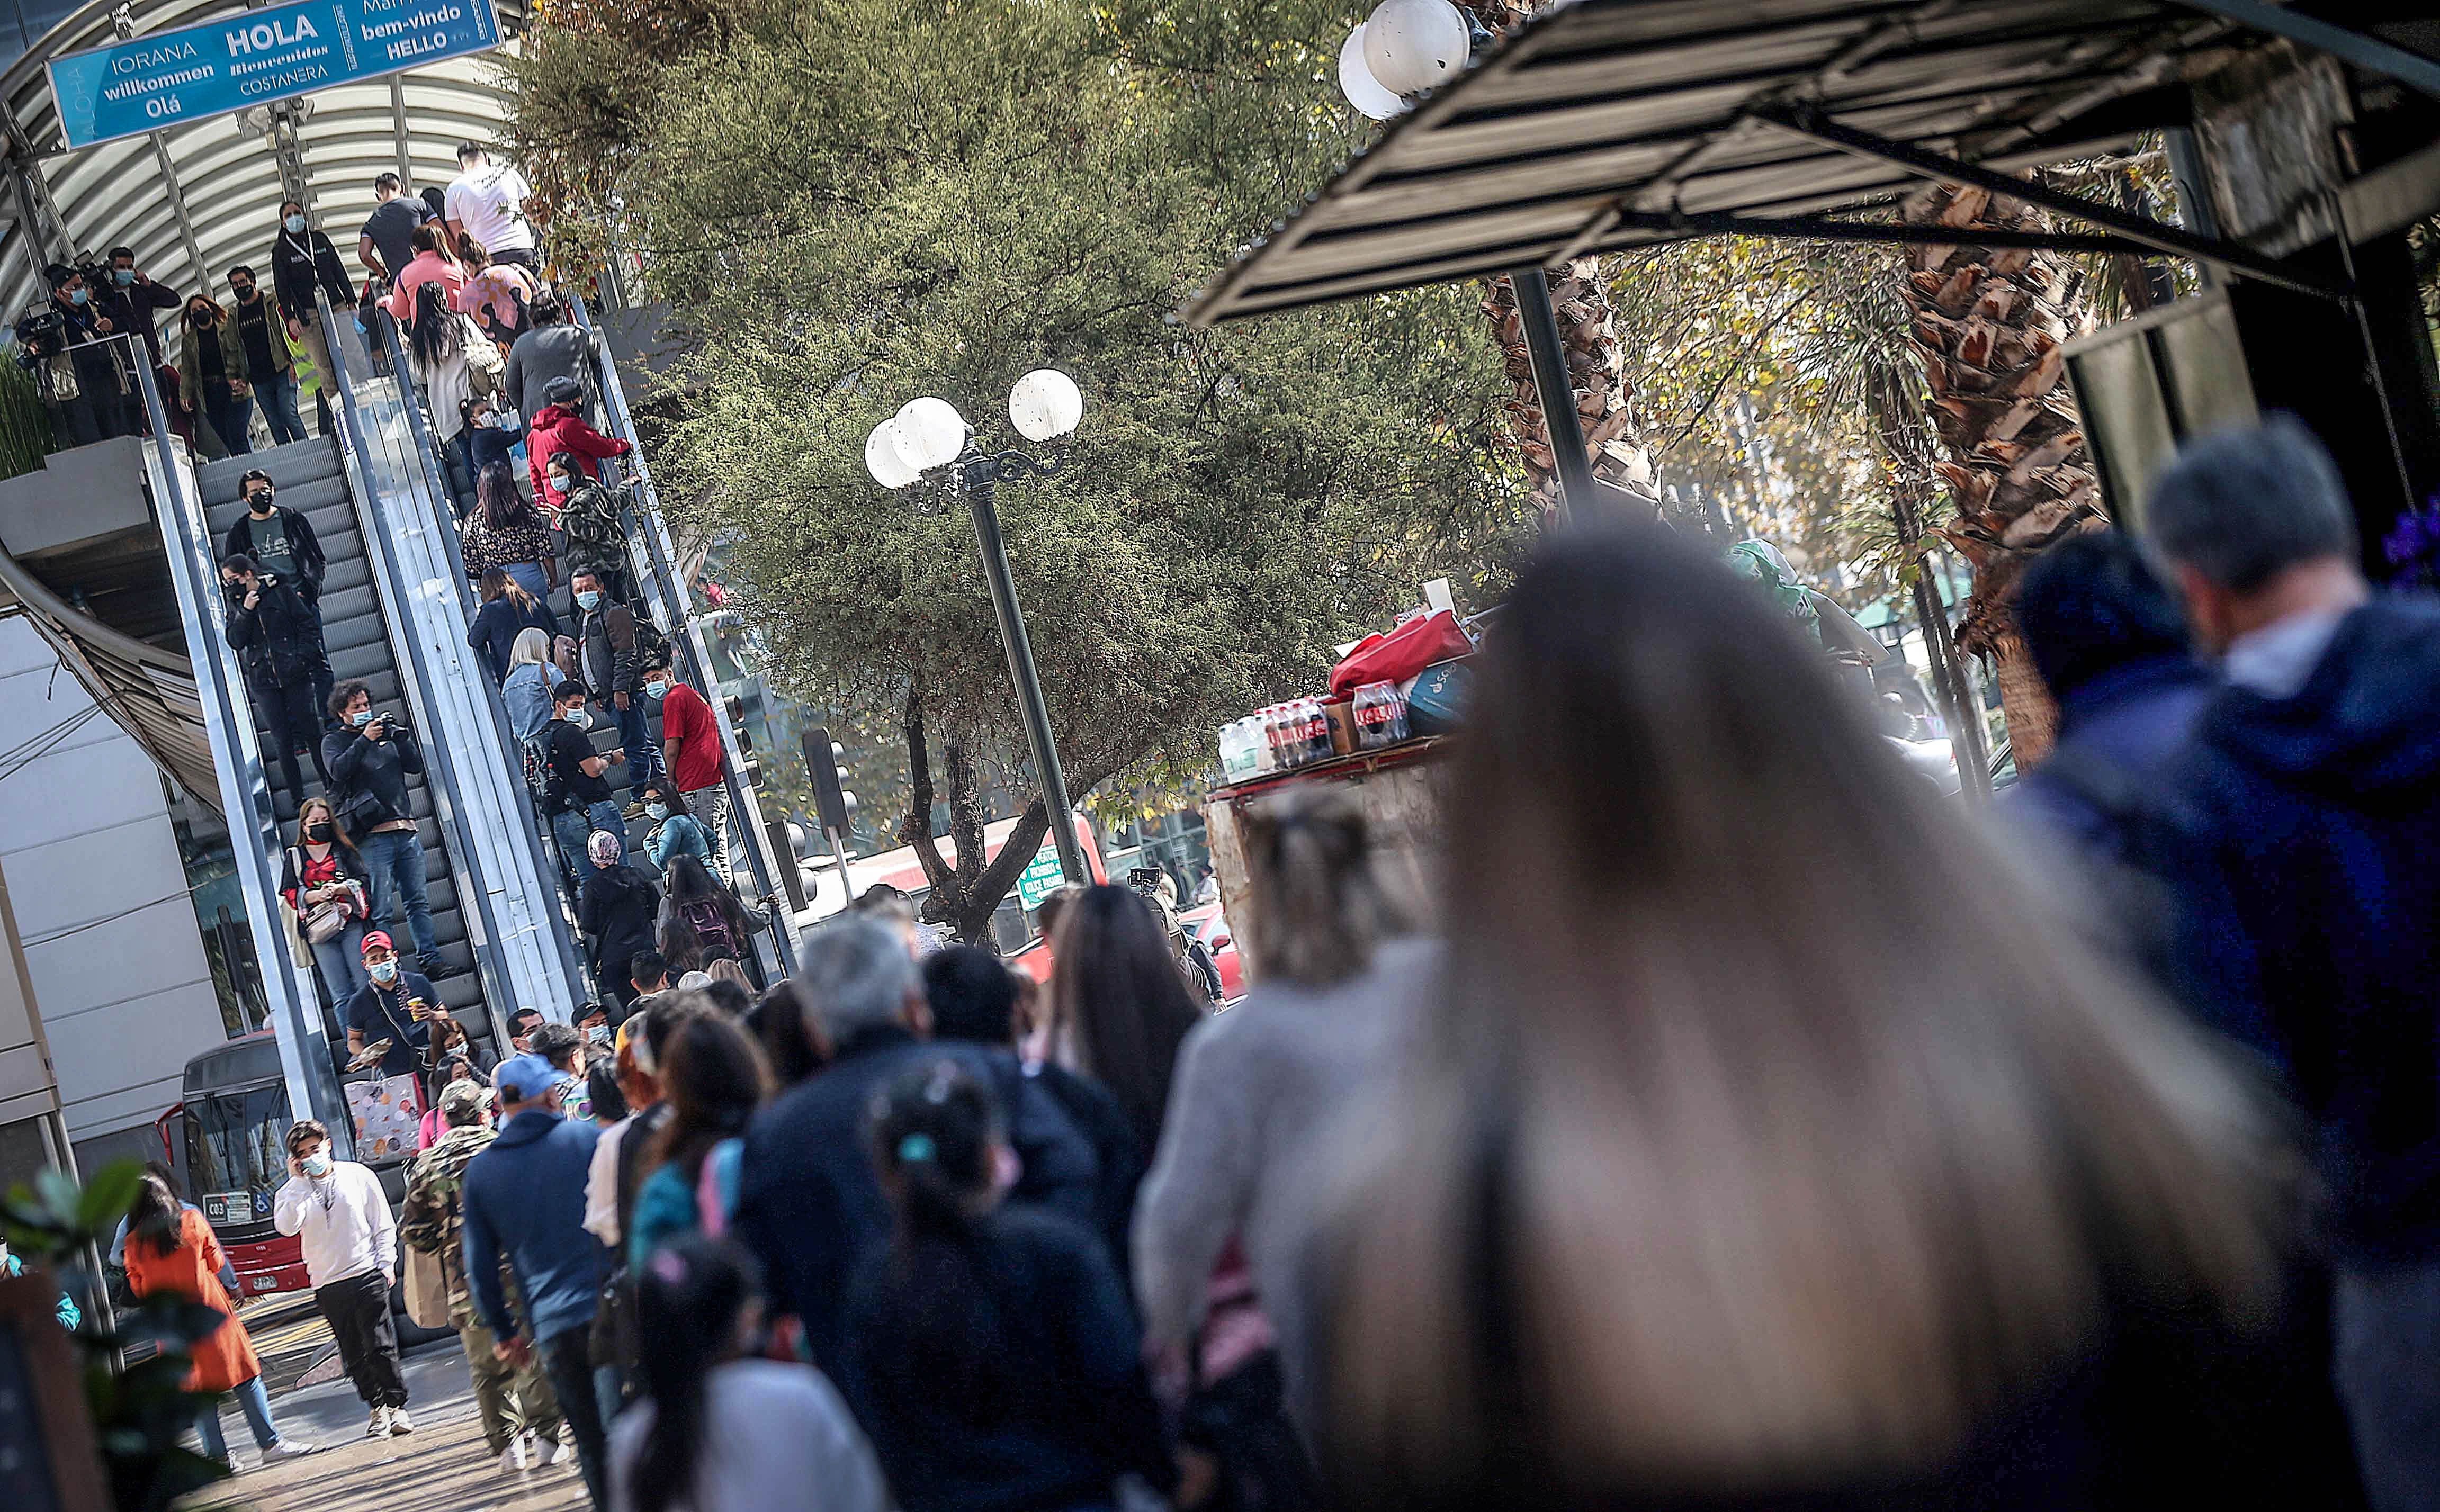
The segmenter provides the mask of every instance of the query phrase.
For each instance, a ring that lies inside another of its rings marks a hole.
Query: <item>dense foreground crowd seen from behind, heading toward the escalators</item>
[[[1249,805],[1225,1012],[1110,885],[1039,990],[878,895],[759,997],[637,946],[410,1178],[493,1451],[617,1512],[2433,1507],[2440,610],[2289,422],[2145,519],[2023,583],[2062,741],[1991,822],[1584,532],[1437,897]]]

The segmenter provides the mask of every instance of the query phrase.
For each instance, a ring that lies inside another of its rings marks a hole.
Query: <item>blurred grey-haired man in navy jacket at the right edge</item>
[[[2184,966],[2318,1127],[2372,1507],[2440,1507],[2440,602],[2364,583],[2289,417],[2181,454],[2145,534],[2228,678],[2169,795]]]

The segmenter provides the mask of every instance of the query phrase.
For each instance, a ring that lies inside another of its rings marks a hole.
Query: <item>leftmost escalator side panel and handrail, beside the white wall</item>
[[[146,471],[154,478],[161,546],[168,556],[171,590],[178,597],[178,619],[185,629],[188,671],[195,678],[205,734],[212,744],[220,812],[229,827],[237,885],[246,897],[246,929],[254,936],[254,963],[271,1007],[288,1107],[298,1117],[322,1119],[339,1151],[349,1154],[356,1124],[346,1117],[346,1095],[339,1090],[329,1034],[322,1029],[322,995],[288,954],[288,932],[281,924],[281,873],[273,871],[273,856],[281,856],[278,810],[271,807],[271,773],[264,768],[261,744],[254,736],[254,705],[244,693],[244,668],[222,634],[227,605],[220,593],[212,527],[203,515],[203,497],[188,493],[190,476],[181,471],[181,458],[171,451],[168,407],[161,402],[151,366],[137,363],[137,385],[151,424],[151,444],[144,451]],[[249,824],[246,817],[254,822]]]

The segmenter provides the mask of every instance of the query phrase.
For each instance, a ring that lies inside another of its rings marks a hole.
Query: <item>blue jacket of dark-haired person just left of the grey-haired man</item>
[[[2189,656],[2147,656],[2067,690],[2059,744],[2015,785],[2013,815],[2079,856],[2133,856],[2145,839],[2130,805],[2159,790],[2218,688]]]

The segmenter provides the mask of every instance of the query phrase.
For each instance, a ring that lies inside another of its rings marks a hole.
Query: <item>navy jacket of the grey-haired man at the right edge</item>
[[[2220,690],[2172,800],[2201,1007],[2267,1027],[2359,1258],[2440,1256],[2435,778],[2440,600],[2396,595],[2294,697]]]

